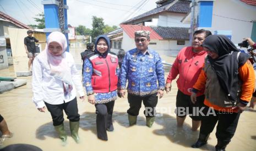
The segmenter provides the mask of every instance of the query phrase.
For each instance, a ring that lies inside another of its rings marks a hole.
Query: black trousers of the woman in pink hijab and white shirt
[[[52,115],[53,126],[61,125],[64,121],[63,110],[68,115],[69,121],[79,121],[80,115],[78,114],[77,97],[72,101],[62,104],[49,104],[45,102],[48,111]]]

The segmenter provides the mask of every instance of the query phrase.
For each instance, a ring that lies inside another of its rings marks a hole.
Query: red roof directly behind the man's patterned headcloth
[[[159,34],[157,34],[152,28],[149,26],[140,26],[140,25],[120,25],[121,28],[123,28],[123,31],[128,34],[130,38],[135,38],[134,37],[134,32],[135,31],[150,31],[150,39],[163,39]]]

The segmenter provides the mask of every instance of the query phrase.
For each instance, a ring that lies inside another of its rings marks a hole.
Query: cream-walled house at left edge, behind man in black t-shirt
[[[28,36],[26,34],[28,30],[34,31],[36,39],[46,41],[44,32],[34,30],[32,27],[0,11],[0,69],[8,68],[9,65],[14,64],[17,65],[14,70],[28,66],[28,57],[24,48],[24,37]],[[37,47],[42,50],[45,48],[45,43],[41,43]],[[22,61],[19,60],[21,58]],[[21,62],[24,62],[25,65],[21,65]]]

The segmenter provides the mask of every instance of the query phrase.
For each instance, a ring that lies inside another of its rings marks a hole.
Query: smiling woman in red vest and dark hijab
[[[110,39],[100,35],[95,51],[84,60],[84,86],[88,102],[95,104],[97,136],[107,141],[107,131],[113,131],[112,114],[117,99],[118,59],[110,52]]]

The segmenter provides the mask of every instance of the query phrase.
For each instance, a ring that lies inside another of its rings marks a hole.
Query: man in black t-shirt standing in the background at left
[[[36,44],[35,42],[39,42],[39,40],[37,40],[35,37],[32,37],[33,31],[29,30],[28,32],[28,36],[24,38],[24,47],[26,49],[26,54],[28,54],[28,58],[29,58],[29,71],[30,71],[30,66],[33,63],[33,60],[35,58],[35,53],[36,53]]]

